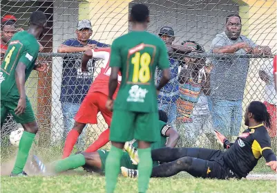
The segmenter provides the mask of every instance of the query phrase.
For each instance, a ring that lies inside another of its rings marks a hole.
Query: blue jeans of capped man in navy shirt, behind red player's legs
[[[61,102],[61,110],[64,116],[64,133],[63,140],[66,140],[66,136],[68,132],[73,129],[75,120],[74,117],[79,110],[80,104],[71,103],[71,102]],[[82,134],[79,136],[77,140],[77,149],[79,151],[84,150],[85,145],[85,135],[86,135],[86,127],[83,129]]]

